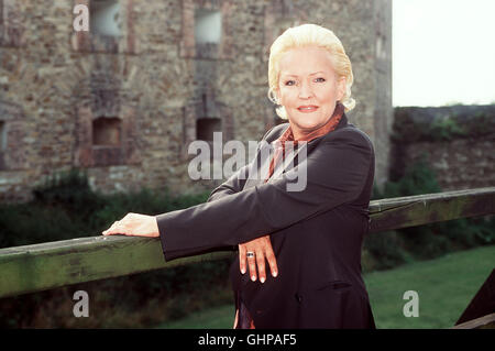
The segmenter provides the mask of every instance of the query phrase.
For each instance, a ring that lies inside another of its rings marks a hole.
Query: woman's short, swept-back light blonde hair
[[[330,52],[338,78],[345,77],[345,94],[340,102],[344,106],[345,111],[352,110],[355,100],[351,98],[351,87],[354,80],[351,61],[345,54],[342,43],[332,31],[310,23],[289,28],[273,42],[268,59],[268,99],[275,105],[279,105],[274,90],[278,87],[278,63],[282,55],[292,48],[310,45],[323,47]],[[276,112],[282,119],[287,119],[287,112],[283,106],[277,107]]]

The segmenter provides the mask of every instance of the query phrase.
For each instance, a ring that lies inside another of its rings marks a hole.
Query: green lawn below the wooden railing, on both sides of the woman
[[[450,253],[400,267],[364,275],[376,327],[450,328],[495,266],[495,245]],[[407,290],[419,295],[419,317],[405,317],[403,299]],[[204,310],[174,322],[157,326],[170,329],[232,328],[233,306]]]

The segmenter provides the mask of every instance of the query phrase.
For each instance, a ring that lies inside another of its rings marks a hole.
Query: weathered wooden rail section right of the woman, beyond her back
[[[370,232],[495,213],[495,187],[398,197],[370,202]]]

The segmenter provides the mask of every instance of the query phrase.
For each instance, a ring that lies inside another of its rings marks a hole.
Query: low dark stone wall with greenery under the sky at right
[[[426,160],[442,190],[495,186],[495,106],[396,109],[391,178]]]

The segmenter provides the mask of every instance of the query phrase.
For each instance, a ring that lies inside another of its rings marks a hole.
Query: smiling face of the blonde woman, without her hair
[[[345,78],[338,78],[330,53],[321,47],[292,48],[279,61],[278,102],[285,107],[294,136],[323,125],[345,92]]]

